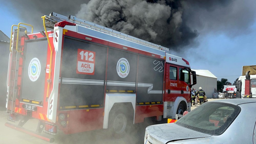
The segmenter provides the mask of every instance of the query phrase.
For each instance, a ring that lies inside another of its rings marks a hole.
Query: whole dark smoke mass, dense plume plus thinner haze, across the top
[[[23,22],[42,30],[42,15],[76,15],[173,50],[189,48],[198,35],[219,32],[231,37],[250,32],[256,1],[78,0],[3,1]],[[193,46],[194,47],[194,46]]]

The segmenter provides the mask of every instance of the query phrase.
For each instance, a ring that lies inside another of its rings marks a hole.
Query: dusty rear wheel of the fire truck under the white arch
[[[125,109],[114,109],[109,115],[110,135],[114,138],[122,138],[128,134],[133,126],[133,114]]]

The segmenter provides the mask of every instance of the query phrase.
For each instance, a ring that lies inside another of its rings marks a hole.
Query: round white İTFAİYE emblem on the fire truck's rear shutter
[[[33,58],[28,65],[29,79],[34,82],[38,79],[41,71],[41,64],[38,58]]]

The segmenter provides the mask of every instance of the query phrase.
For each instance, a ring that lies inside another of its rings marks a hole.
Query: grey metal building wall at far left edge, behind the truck
[[[6,104],[9,46],[9,42],[0,41],[0,107],[5,107]]]

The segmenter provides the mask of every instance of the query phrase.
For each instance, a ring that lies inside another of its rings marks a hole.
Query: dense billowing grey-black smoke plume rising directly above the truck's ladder
[[[180,6],[178,6],[180,5]],[[197,30],[186,26],[180,2],[91,0],[77,17],[164,46],[186,45]]]

